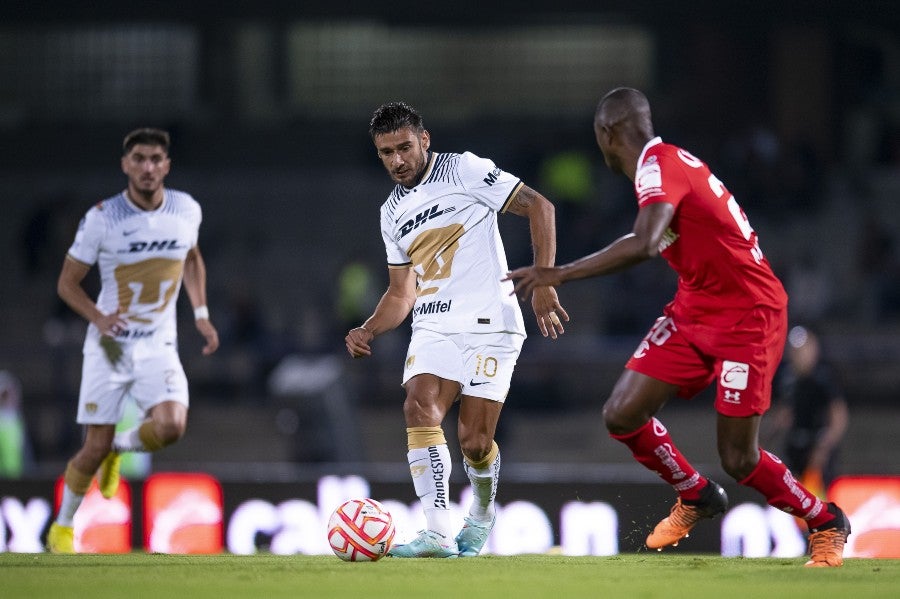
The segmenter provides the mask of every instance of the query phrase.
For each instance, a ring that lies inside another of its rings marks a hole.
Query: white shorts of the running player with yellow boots
[[[116,424],[131,395],[142,412],[164,401],[188,406],[188,384],[174,345],[141,352],[135,357],[126,346],[113,367],[103,352],[87,352],[81,368],[78,424]]]

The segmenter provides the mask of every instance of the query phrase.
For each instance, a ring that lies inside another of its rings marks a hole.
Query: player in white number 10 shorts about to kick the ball
[[[412,313],[406,355],[407,460],[425,529],[390,550],[394,557],[471,557],[494,525],[500,453],[494,441],[525,326],[513,288],[501,282],[506,255],[497,215],[528,218],[535,264],[556,254],[553,205],[517,177],[471,153],[432,153],[422,118],[402,102],[375,111],[369,132],[397,187],[381,208],[390,282],[373,314],[350,330],[350,355]],[[568,315],[552,287],[532,307],[544,336],[563,332]],[[460,401],[458,433],[473,500],[454,536],[450,452],[442,423]]]

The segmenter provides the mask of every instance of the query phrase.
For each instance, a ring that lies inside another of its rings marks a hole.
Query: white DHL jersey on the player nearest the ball
[[[497,228],[497,214],[522,186],[474,154],[433,153],[421,182],[398,185],[381,206],[389,268],[417,275],[413,330],[510,332],[525,323]]]

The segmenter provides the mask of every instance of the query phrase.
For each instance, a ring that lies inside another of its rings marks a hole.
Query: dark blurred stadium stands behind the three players
[[[159,459],[395,460],[408,325],[369,361],[343,344],[387,283],[378,208],[391,182],[372,110],[405,100],[437,151],[490,157],[542,191],[564,262],[634,219],[592,131],[620,85],[645,91],[657,133],[735,194],[792,323],[819,331],[849,404],[844,469],[897,472],[879,442],[900,388],[896,2],[38,4],[0,9],[0,417],[27,440],[10,475],[56,471],[78,445],[85,323],[56,277],[84,212],[124,187],[130,129],[172,133],[167,184],[204,208],[222,334],[201,358],[182,298],[191,432]],[[526,227],[501,217],[510,266],[531,261]],[[572,321],[555,343],[526,307],[505,459],[627,460],[606,451],[599,408],[674,285],[657,260],[567,286]],[[712,412],[702,397],[677,403],[670,421]]]

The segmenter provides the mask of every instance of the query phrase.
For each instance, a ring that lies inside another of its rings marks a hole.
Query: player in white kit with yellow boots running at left
[[[138,129],[125,137],[122,170],[128,187],[88,210],[59,277],[60,297],[90,324],[77,422],[87,427],[82,448],[69,461],[63,498],[47,543],[74,553],[74,516],[97,473],[112,497],[123,451],[155,451],[181,438],[187,426],[188,386],[178,356],[175,304],[182,282],[194,306],[204,354],[218,347],[206,307],[206,266],[197,245],[200,205],[163,187],[169,172],[169,136]],[[82,281],[96,265],[96,302]],[[115,434],[126,395],[146,420]]]

